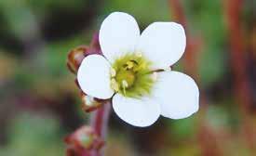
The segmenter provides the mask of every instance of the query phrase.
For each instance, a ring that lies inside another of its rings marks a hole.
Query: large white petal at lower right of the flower
[[[155,97],[163,116],[182,119],[199,109],[199,90],[191,77],[178,71],[163,71],[158,78]]]

